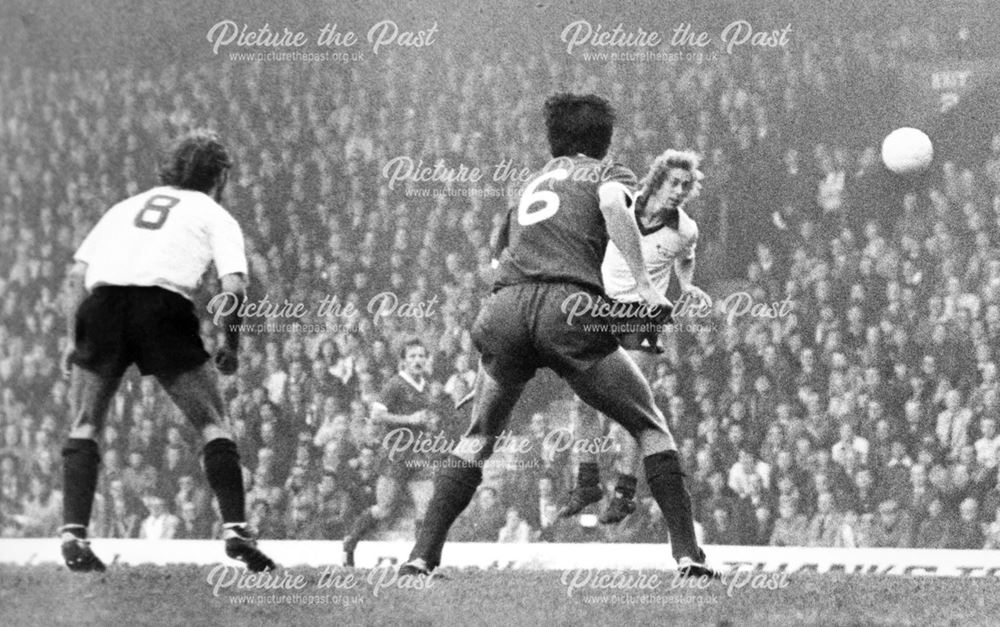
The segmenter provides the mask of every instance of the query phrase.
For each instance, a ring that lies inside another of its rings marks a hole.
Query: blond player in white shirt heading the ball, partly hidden
[[[681,293],[694,306],[710,306],[711,298],[693,283],[695,248],[698,243],[698,225],[684,211],[689,200],[695,198],[703,178],[699,158],[693,152],[667,150],[658,156],[649,172],[639,182],[634,196],[635,215],[642,235],[642,256],[649,271],[653,287],[661,294],[670,287],[671,273],[677,274]],[[604,291],[619,303],[641,305],[636,280],[628,264],[613,242],[608,243],[601,265]],[[618,341],[636,362],[647,380],[653,373],[656,358],[662,352],[660,332],[672,322],[672,309],[651,312],[650,316],[628,316],[612,320],[618,325]],[[601,420],[596,413],[580,412],[576,424],[576,437],[587,442],[599,442],[604,437]],[[626,434],[616,438],[620,447],[617,464],[618,482],[615,495],[601,514],[600,522],[621,522],[635,511],[636,465],[639,451],[635,440]],[[596,450],[580,447],[581,451]],[[570,492],[569,502],[560,510],[561,517],[575,516],[584,507],[600,501],[604,493],[596,453],[583,452],[578,458],[580,466],[577,485]]]

